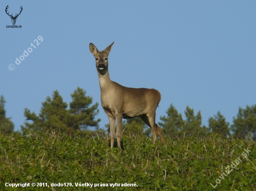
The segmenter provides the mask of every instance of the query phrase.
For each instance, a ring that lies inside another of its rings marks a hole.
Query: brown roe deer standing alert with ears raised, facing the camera
[[[114,42],[104,51],[98,51],[96,46],[90,43],[90,51],[96,60],[96,68],[101,88],[101,105],[108,115],[110,125],[111,148],[114,146],[115,120],[116,139],[121,149],[121,125],[123,119],[140,117],[153,132],[153,144],[158,134],[162,144],[165,144],[161,127],[155,123],[156,108],[161,100],[161,94],[156,89],[127,88],[113,82],[108,73],[108,54]]]

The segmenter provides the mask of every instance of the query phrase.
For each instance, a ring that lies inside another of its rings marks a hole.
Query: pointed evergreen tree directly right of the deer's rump
[[[182,129],[184,125],[184,121],[182,119],[182,114],[178,113],[173,104],[170,105],[168,110],[166,111],[166,116],[160,116],[160,120],[158,125],[162,127],[163,133],[167,134],[171,137],[182,136]]]

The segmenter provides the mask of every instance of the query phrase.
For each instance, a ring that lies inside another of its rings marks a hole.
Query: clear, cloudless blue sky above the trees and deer
[[[5,13],[22,13],[12,25]],[[0,1],[0,95],[15,130],[24,109],[36,114],[58,90],[64,101],[78,86],[100,103],[89,43],[108,57],[112,81],[155,88],[156,122],[173,103],[202,122],[218,111],[232,124],[238,108],[256,104],[256,1]],[[34,39],[43,38],[40,45]],[[19,65],[24,50],[36,46]],[[13,64],[14,70],[8,66]],[[100,127],[108,123],[99,104]],[[185,117],[184,117],[185,118]]]

